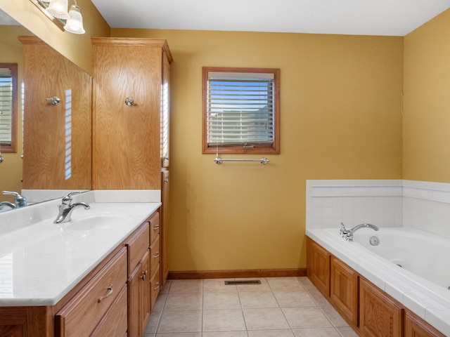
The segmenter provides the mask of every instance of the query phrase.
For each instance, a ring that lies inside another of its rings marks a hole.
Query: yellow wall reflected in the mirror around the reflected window
[[[22,44],[15,36],[30,35],[22,26],[0,26],[0,62],[17,63],[18,64],[18,117],[17,117],[17,152],[2,152],[4,162],[0,164],[0,189],[7,191],[20,192],[22,190],[22,100],[20,99],[21,88],[23,82],[23,58]],[[13,201],[13,197],[0,194],[0,200]]]

